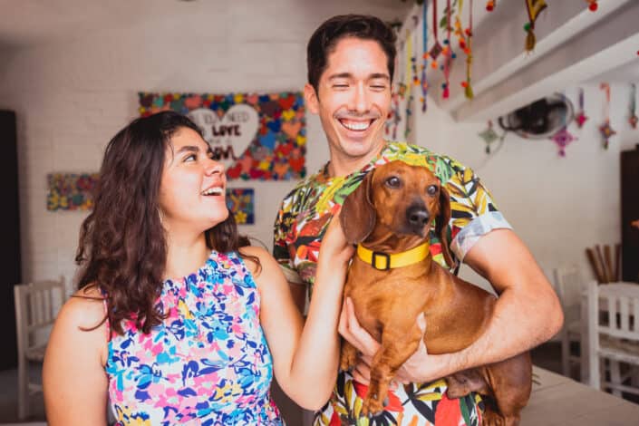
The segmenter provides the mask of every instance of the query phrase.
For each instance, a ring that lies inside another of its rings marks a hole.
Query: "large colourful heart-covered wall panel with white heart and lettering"
[[[305,177],[306,127],[301,92],[140,92],[140,115],[173,110],[198,124],[228,179]]]

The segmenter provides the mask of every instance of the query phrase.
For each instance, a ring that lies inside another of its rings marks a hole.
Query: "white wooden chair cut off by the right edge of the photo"
[[[639,383],[630,385],[620,373],[620,364],[629,365],[632,373],[639,367],[639,284],[609,283],[588,285],[588,363],[590,385],[639,395]],[[600,360],[610,362],[610,380],[602,382]]]

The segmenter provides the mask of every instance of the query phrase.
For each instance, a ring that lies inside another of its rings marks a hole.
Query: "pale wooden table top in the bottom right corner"
[[[533,390],[521,426],[637,426],[639,405],[533,366]]]

